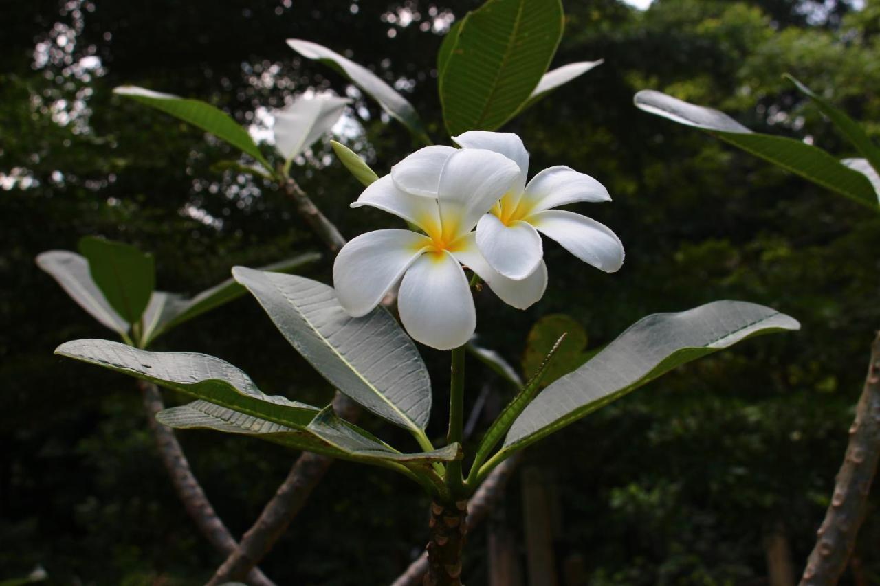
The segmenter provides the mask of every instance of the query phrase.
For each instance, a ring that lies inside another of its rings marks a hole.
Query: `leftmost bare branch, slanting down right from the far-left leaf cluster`
[[[165,465],[165,470],[171,477],[174,489],[177,491],[180,501],[183,502],[184,508],[187,509],[187,513],[192,517],[199,531],[202,531],[202,535],[208,538],[210,544],[220,553],[229,555],[235,552],[238,549],[238,543],[230,531],[226,529],[223,520],[217,516],[214,507],[211,506],[205,495],[205,491],[202,490],[202,485],[195,478],[189,467],[187,456],[183,453],[177,436],[174,435],[174,430],[166,428],[156,421],[156,414],[165,408],[158,387],[143,380],[137,381],[137,386],[143,393],[143,408],[147,412],[150,430],[156,437],[162,464]],[[275,582],[269,580],[260,571],[260,568],[252,566],[248,570],[246,572],[248,583],[254,586],[275,586]]]

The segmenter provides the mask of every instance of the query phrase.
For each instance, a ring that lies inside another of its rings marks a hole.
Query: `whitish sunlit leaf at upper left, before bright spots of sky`
[[[312,98],[300,96],[289,106],[272,113],[275,125],[275,148],[290,166],[293,157],[308,149],[324,133],[333,128],[350,99],[318,94]]]

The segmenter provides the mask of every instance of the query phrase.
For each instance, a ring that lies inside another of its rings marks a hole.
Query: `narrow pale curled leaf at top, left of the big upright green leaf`
[[[413,136],[423,142],[430,143],[428,133],[422,125],[422,119],[419,118],[413,105],[375,73],[335,51],[309,40],[288,39],[287,44],[306,59],[317,60],[341,72],[351,80],[351,83],[361,88],[370,98],[375,99],[392,118],[402,122]]]

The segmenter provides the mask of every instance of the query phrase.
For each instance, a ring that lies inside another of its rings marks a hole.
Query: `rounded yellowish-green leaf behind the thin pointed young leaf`
[[[580,323],[563,313],[546,315],[535,322],[529,331],[523,353],[523,372],[532,378],[545,366],[546,356],[559,343],[560,336],[566,334],[561,346],[556,348],[553,363],[546,370],[542,386],[550,385],[554,380],[564,377],[581,364],[587,362],[587,332]]]

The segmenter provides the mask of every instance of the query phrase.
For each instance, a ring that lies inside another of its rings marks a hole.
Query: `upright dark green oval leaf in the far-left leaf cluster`
[[[141,319],[156,286],[153,255],[132,245],[87,236],[79,253],[89,261],[89,273],[107,302],[129,324]]]

